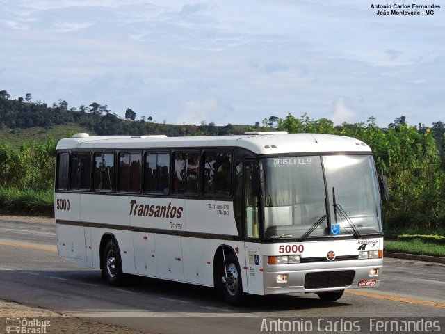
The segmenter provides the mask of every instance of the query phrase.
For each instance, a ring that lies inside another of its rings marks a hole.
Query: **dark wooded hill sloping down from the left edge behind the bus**
[[[216,126],[202,120],[200,125],[169,125],[166,122],[152,122],[152,116],[136,120],[136,113],[131,109],[125,112],[125,119],[119,118],[108,106],[92,102],[89,106],[68,109],[65,100],[59,100],[48,106],[42,102],[32,102],[31,94],[25,98],[11,100],[6,90],[0,91],[0,129],[28,129],[76,123],[97,135],[108,134],[165,134],[167,136],[189,135],[224,135],[243,133],[248,127],[234,127],[230,124]]]

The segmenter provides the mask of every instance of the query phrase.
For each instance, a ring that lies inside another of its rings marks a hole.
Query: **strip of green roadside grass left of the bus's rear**
[[[8,213],[49,213],[54,207],[51,190],[0,188],[0,211]]]

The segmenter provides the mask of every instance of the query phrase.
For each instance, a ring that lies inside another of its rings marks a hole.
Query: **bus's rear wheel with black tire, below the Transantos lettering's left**
[[[110,239],[102,255],[102,273],[109,285],[117,287],[123,282],[122,260],[120,259],[120,250],[118,244]]]

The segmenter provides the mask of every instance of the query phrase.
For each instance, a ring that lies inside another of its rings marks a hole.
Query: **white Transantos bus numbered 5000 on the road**
[[[345,136],[88,136],[56,149],[59,257],[244,294],[378,287],[383,231],[371,149]]]

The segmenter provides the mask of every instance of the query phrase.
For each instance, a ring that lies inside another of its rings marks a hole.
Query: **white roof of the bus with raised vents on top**
[[[76,135],[74,135],[76,136]],[[73,137],[74,137],[73,136]],[[111,150],[239,147],[255,154],[301,152],[371,152],[355,138],[330,134],[245,134],[241,136],[88,136],[61,139],[57,150]]]

